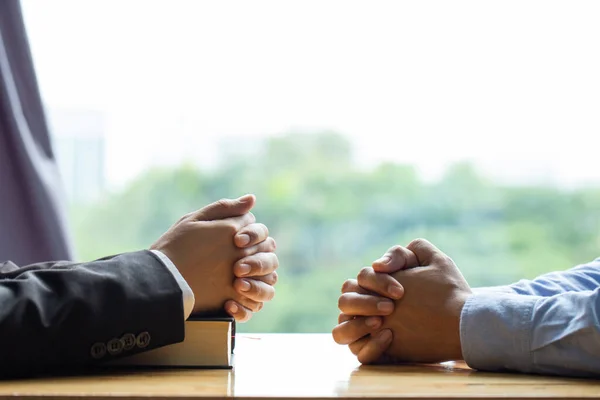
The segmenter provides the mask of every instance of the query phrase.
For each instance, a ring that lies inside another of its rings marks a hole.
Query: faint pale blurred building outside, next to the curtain
[[[97,199],[106,185],[104,115],[83,109],[48,109],[47,117],[69,202]]]

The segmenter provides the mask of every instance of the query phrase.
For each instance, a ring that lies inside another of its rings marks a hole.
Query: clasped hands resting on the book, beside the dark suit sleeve
[[[181,217],[150,247],[163,252],[192,289],[193,314],[224,309],[243,322],[275,295],[276,243],[250,212],[255,202],[247,195],[209,204]]]

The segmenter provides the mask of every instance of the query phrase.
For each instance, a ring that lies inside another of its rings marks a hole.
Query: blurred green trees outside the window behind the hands
[[[600,190],[494,184],[469,164],[426,183],[410,165],[372,170],[334,133],[288,134],[216,170],[147,171],[101,201],[73,207],[80,259],[147,248],[172,223],[222,197],[254,193],[277,240],[275,300],[245,332],[329,332],[346,278],[394,244],[425,237],[472,286],[507,284],[589,261],[600,244]]]

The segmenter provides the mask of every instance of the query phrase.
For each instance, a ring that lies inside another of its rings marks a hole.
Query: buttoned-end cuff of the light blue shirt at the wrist
[[[465,362],[486,371],[531,371],[532,313],[540,299],[493,291],[472,294],[460,317]]]

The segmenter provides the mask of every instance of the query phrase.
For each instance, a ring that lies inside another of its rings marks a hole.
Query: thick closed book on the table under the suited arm
[[[111,361],[127,367],[231,368],[235,347],[233,318],[195,318],[185,322],[183,342]]]

